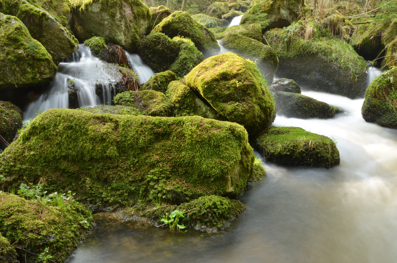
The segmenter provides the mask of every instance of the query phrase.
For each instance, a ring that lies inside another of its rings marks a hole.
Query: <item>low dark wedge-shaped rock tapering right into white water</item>
[[[274,93],[277,112],[288,118],[333,118],[335,114],[343,112],[325,102],[307,97],[299,93],[277,91]]]

